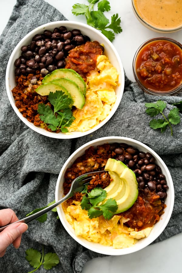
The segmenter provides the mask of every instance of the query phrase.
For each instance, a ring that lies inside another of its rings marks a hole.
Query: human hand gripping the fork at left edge
[[[0,227],[11,224],[18,220],[19,219],[13,210],[0,210]],[[0,232],[0,257],[5,254],[6,248],[10,244],[13,244],[15,248],[19,248],[22,239],[22,233],[25,232],[27,228],[28,225],[25,223],[16,223],[6,227],[3,231]]]

